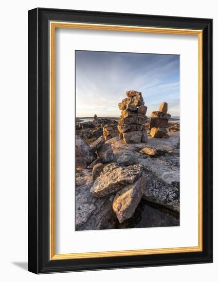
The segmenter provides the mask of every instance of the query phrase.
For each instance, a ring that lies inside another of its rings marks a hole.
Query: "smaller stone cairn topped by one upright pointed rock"
[[[168,120],[171,115],[167,113],[168,105],[166,102],[162,102],[158,111],[154,111],[151,113],[150,119],[150,129],[152,137],[166,137],[168,127]]]

